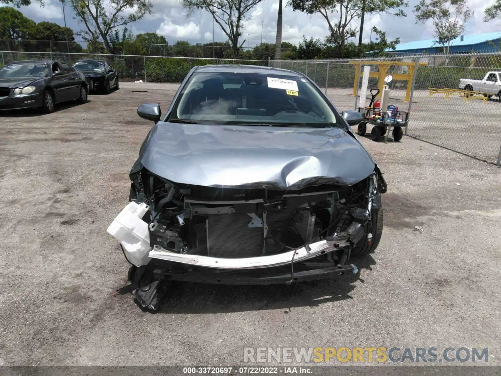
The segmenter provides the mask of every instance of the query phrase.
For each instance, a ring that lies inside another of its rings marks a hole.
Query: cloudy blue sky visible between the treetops
[[[33,1],[33,0],[32,0]],[[209,13],[197,11],[188,15],[177,0],[152,0],[154,14],[148,15],[140,22],[132,25],[134,34],[143,32],[156,32],[167,38],[169,44],[185,40],[190,43],[205,43],[212,41],[212,18]],[[409,0],[409,8],[405,10],[406,18],[394,18],[391,16],[373,16],[364,25],[364,41],[368,42],[370,30],[373,26],[386,32],[388,39],[400,37],[402,43],[433,38],[433,29],[429,24],[416,24],[412,13],[413,7],[419,0]],[[466,24],[466,35],[501,31],[501,21],[483,23],[483,11],[494,3],[494,0],[467,0],[469,8],[474,11],[474,17]],[[287,0],[284,0],[284,4]],[[251,11],[250,20],[243,25],[243,39],[246,40],[244,47],[253,47],[261,43],[263,27],[263,42],[275,42],[277,30],[278,0],[263,0]],[[50,21],[63,25],[63,12],[58,0],[45,0],[45,7],[32,4],[22,7],[20,11],[36,22]],[[66,7],[67,25],[76,32],[82,28],[75,19],[69,7]],[[307,38],[321,38],[328,34],[327,23],[320,15],[309,16],[300,12],[294,12],[286,7],[283,13],[283,41],[298,44],[303,35]],[[332,15],[335,19],[336,15]],[[224,41],[227,38],[215,25],[215,40]],[[357,39],[358,40],[358,39]]]

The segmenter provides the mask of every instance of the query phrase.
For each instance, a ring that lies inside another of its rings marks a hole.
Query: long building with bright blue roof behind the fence
[[[468,52],[498,52],[499,38],[501,33],[482,33],[475,35],[464,35],[450,41],[450,54],[460,54]],[[442,46],[435,43],[433,39],[400,43],[396,50],[387,50],[394,53],[406,54],[436,54],[442,53]]]

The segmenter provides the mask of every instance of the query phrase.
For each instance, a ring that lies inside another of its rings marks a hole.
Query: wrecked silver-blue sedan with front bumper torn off
[[[193,68],[134,163],[129,205],[108,228],[132,264],[133,295],[156,309],[165,280],[293,283],[357,273],[378,246],[384,178],[308,77]]]

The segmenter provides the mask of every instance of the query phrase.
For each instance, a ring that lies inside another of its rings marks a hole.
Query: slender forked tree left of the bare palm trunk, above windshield
[[[75,0],[76,1],[76,0]],[[242,36],[242,26],[250,19],[248,12],[263,0],[181,0],[182,6],[188,11],[204,10],[209,12],[217,25],[228,37],[233,57],[238,57],[238,52],[245,40],[239,44]]]

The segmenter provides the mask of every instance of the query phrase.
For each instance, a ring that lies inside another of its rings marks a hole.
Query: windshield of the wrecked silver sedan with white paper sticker
[[[328,127],[336,116],[306,78],[228,71],[194,73],[168,121]]]

